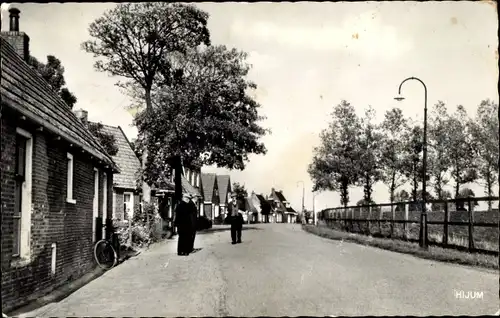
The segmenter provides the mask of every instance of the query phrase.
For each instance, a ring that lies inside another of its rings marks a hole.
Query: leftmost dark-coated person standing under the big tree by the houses
[[[190,204],[190,195],[184,193],[182,201],[179,202],[175,209],[175,226],[179,240],[177,242],[177,255],[186,256],[192,251],[191,243],[193,242],[193,221],[192,221],[192,206]]]

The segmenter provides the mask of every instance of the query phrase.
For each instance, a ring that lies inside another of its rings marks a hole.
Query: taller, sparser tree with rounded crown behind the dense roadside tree
[[[142,90],[146,113],[153,109],[151,92],[155,85],[171,84],[173,70],[169,54],[184,54],[190,48],[210,44],[208,14],[193,5],[168,2],[121,3],[92,22],[92,40],[82,48],[98,58],[95,68],[124,79],[117,85],[126,91]],[[148,131],[143,127],[144,139]],[[142,151],[146,169],[148,147]],[[142,184],[143,199],[150,201],[149,184]]]

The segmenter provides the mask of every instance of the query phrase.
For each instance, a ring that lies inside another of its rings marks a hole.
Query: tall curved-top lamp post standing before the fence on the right
[[[423,168],[423,178],[422,178],[422,213],[420,215],[420,247],[427,248],[427,86],[425,86],[424,82],[416,77],[408,77],[404,81],[399,84],[398,96],[394,99],[397,101],[402,101],[404,97],[401,96],[401,86],[406,81],[416,80],[420,82],[424,86],[424,142],[423,142],[423,151],[424,158],[422,162]]]

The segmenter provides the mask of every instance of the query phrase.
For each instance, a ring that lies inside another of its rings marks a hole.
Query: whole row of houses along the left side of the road
[[[95,267],[95,242],[109,238],[105,225],[129,222],[142,209],[141,161],[123,130],[102,126],[118,148],[110,156],[90,132],[88,113],[73,111],[29,65],[30,38],[19,31],[20,11],[9,12],[10,29],[0,37],[4,312],[88,273]],[[182,190],[195,196],[200,216],[215,224],[227,216],[230,176],[184,166]],[[151,194],[160,214],[171,219],[173,177]],[[294,220],[274,189],[265,199],[252,193],[246,204],[256,222]]]

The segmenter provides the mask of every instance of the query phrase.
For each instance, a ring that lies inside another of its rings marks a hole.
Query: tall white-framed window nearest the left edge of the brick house
[[[12,255],[28,259],[30,256],[33,138],[30,133],[20,128],[17,129],[15,156]]]

